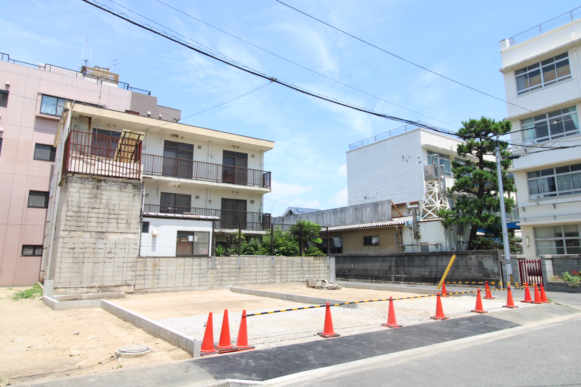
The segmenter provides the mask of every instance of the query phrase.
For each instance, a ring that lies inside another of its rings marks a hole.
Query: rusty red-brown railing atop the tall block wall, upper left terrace
[[[64,142],[63,175],[141,179],[141,140],[71,131]]]

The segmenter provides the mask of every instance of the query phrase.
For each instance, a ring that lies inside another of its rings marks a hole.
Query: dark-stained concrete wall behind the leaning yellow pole
[[[437,283],[452,254],[456,259],[446,281],[500,281],[500,250],[336,254],[340,280]]]

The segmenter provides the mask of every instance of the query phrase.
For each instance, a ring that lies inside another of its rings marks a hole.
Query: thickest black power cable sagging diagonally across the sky
[[[271,82],[274,82],[274,83],[277,83],[279,85],[285,86],[285,87],[287,87],[289,89],[292,89],[294,91],[303,93],[305,95],[310,95],[310,96],[316,97],[318,99],[325,100],[327,102],[335,103],[335,104],[338,104],[338,105],[343,106],[343,107],[349,107],[349,108],[352,108],[353,110],[361,111],[363,113],[372,114],[372,115],[375,115],[377,117],[387,118],[388,120],[397,121],[397,122],[403,122],[404,124],[412,124],[412,125],[418,126],[419,128],[429,129],[431,131],[435,131],[435,132],[439,132],[439,133],[444,133],[446,135],[458,136],[458,133],[446,131],[443,128],[438,128],[437,126],[434,126],[434,125],[428,125],[428,124],[424,124],[422,122],[415,122],[415,121],[406,120],[405,118],[395,117],[393,115],[378,113],[378,112],[376,112],[374,110],[371,110],[371,109],[367,109],[367,108],[364,108],[364,107],[360,107],[360,106],[357,106],[357,105],[354,105],[354,104],[351,104],[351,103],[347,103],[347,102],[342,102],[342,101],[340,101],[338,99],[331,98],[331,97],[328,97],[328,96],[325,96],[325,95],[322,95],[322,94],[319,94],[319,93],[316,93],[316,92],[312,92],[312,91],[309,91],[307,89],[300,88],[299,86],[296,86],[296,85],[293,85],[293,84],[289,84],[288,82],[282,81],[281,79],[277,79],[275,77],[268,77],[268,75],[263,74],[263,73],[259,73],[257,70],[253,70],[252,68],[250,68],[250,67],[248,67],[248,66],[246,66],[246,65],[244,65],[242,63],[236,62],[234,59],[230,59],[227,56],[224,56],[224,55],[218,53],[215,50],[212,50],[212,51],[216,52],[218,56],[213,55],[213,54],[211,54],[209,52],[205,52],[204,50],[200,49],[199,47],[196,47],[195,45],[193,45],[191,43],[182,41],[180,38],[177,38],[175,36],[170,36],[165,31],[157,30],[157,28],[152,27],[152,26],[149,26],[149,24],[141,24],[141,21],[138,21],[137,19],[133,19],[132,17],[130,17],[128,15],[125,15],[124,13],[121,13],[121,12],[118,12],[116,10],[113,10],[109,6],[104,5],[102,3],[99,3],[96,0],[81,0],[81,1],[84,1],[84,2],[86,2],[88,4],[91,4],[92,6],[95,6],[96,8],[99,8],[101,10],[104,10],[105,12],[110,13],[111,15],[117,16],[120,19],[123,19],[125,21],[128,21],[131,24],[134,24],[135,26],[144,28],[144,30],[148,30],[150,32],[153,32],[154,34],[160,35],[161,37],[164,37],[164,38],[166,38],[166,39],[168,39],[170,41],[173,41],[173,42],[175,42],[177,44],[180,44],[180,45],[182,45],[184,47],[187,47],[187,48],[189,48],[191,50],[194,50],[194,51],[196,51],[198,53],[201,53],[202,55],[205,55],[207,57],[211,57],[212,59],[216,59],[216,60],[218,60],[218,61],[220,61],[222,63],[228,64],[228,66],[232,66],[232,67],[238,68],[239,70],[246,71],[246,73],[256,75],[257,77],[260,77],[260,78],[268,79]],[[137,15],[139,15],[139,14],[137,14]],[[153,21],[153,23],[155,23],[155,24],[157,24],[159,26],[162,26],[162,24],[156,23],[155,21]],[[162,27],[164,27],[164,26],[162,26]],[[164,28],[166,28],[166,27],[164,27]],[[183,35],[181,35],[181,36],[183,36]],[[191,40],[189,38],[187,38],[187,39],[188,40]],[[507,133],[504,133],[504,134],[507,134]],[[483,137],[477,137],[477,136],[474,136],[474,137],[464,136],[464,137],[466,137],[466,138],[475,138],[475,139],[476,138],[489,139],[489,138],[483,138]],[[507,141],[503,141],[503,143],[511,144],[511,145],[514,145],[514,146],[521,146],[519,144],[512,144],[512,143],[509,143]],[[540,147],[540,146],[530,146],[530,147],[546,148],[546,147]],[[563,148],[562,147],[557,147],[557,148],[553,148],[553,149],[563,149]]]

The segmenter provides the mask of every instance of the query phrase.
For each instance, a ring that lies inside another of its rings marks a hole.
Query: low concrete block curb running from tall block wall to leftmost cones
[[[84,309],[84,308],[102,308],[107,312],[119,317],[121,320],[127,321],[135,325],[135,327],[144,330],[148,334],[159,337],[181,349],[188,352],[192,357],[200,357],[200,348],[202,348],[202,341],[184,334],[173,328],[158,323],[155,320],[148,319],[141,314],[131,312],[129,309],[121,308],[113,302],[105,299],[91,299],[83,301],[56,301],[49,296],[42,296],[42,301],[53,310],[67,310],[67,309]]]

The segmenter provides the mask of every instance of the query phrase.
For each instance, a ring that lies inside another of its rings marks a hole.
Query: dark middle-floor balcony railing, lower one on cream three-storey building
[[[144,204],[145,212],[162,214],[184,214],[193,212],[197,215],[217,216],[219,222],[214,223],[218,229],[267,230],[270,229],[271,214],[263,212],[231,211],[229,209],[212,209],[196,207],[178,207],[175,205]]]

